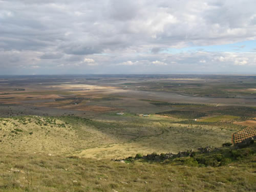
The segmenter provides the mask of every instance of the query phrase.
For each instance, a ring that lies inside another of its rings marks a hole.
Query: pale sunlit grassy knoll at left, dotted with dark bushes
[[[17,117],[0,120],[1,149],[8,152],[70,154],[114,139],[90,126],[54,117]]]

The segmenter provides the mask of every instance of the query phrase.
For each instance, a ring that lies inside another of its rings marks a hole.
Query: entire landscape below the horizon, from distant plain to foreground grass
[[[254,191],[255,144],[234,146],[255,135],[254,78],[2,77],[0,191]]]

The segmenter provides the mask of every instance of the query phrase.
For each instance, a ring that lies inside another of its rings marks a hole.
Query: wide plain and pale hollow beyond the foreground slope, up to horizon
[[[0,152],[20,155],[23,161],[28,154],[102,163],[136,154],[221,147],[237,142],[234,134],[245,127],[256,127],[255,88],[255,76],[2,76]],[[1,186],[6,185],[0,184],[0,191]],[[71,191],[120,187],[82,190],[79,185]]]

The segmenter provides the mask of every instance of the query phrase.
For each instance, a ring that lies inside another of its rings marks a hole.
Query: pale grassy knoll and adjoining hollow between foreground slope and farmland
[[[218,147],[230,140],[232,130],[170,123],[175,120],[133,115],[109,115],[108,119],[93,120],[35,116],[5,118],[0,122],[0,140],[2,150],[7,152],[72,154],[97,159],[124,158],[137,153],[178,153],[199,146]]]

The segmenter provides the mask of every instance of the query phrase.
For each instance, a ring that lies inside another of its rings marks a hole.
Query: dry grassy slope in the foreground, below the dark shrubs
[[[255,168],[255,156],[194,167],[0,152],[0,191],[255,191]]]

